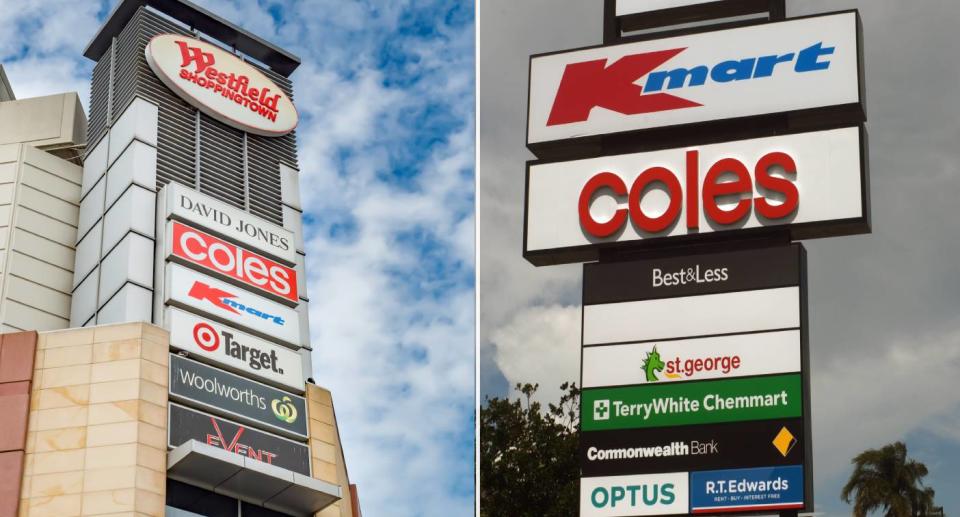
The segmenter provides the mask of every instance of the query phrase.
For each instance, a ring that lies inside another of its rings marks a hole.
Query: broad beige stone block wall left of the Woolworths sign
[[[162,516],[169,335],[144,323],[40,333],[21,516]]]

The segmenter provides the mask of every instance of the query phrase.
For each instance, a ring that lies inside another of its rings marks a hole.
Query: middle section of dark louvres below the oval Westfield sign
[[[243,210],[243,132],[200,117],[200,192]]]

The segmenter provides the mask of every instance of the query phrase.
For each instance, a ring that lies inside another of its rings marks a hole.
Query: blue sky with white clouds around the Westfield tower
[[[297,54],[314,377],[367,516],[469,515],[474,436],[474,7],[197,3]],[[115,2],[0,11],[18,97],[77,91]],[[11,30],[13,29],[13,30]]]

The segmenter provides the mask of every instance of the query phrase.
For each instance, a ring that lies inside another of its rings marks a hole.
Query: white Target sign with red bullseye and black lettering
[[[303,358],[284,346],[173,307],[164,313],[170,346],[190,357],[264,381],[304,391]]]

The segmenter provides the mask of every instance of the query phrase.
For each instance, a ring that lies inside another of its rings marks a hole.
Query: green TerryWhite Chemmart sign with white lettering
[[[582,397],[584,431],[795,418],[803,404],[799,374],[585,389]]]

